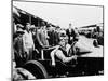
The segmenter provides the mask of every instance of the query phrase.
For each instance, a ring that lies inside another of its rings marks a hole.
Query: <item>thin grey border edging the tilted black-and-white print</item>
[[[97,6],[103,8],[103,30],[104,30],[104,46],[103,46],[103,56],[104,56],[104,73],[97,75],[97,76],[104,76],[105,75],[105,5],[95,5],[95,4],[80,4],[80,3],[64,3],[64,2],[48,2],[48,1],[30,1],[30,0],[11,0],[11,80],[13,79],[13,1],[17,2],[36,2],[36,3],[48,3],[48,4],[65,4],[65,5],[81,5],[81,6]],[[80,76],[79,76],[80,77]],[[81,77],[93,77],[93,76],[81,76]],[[71,78],[71,77],[67,77]],[[58,79],[58,78],[50,78],[50,79]],[[30,80],[30,79],[29,79]],[[33,79],[36,80],[36,79]],[[43,80],[43,79],[38,79]],[[24,80],[25,81],[25,80]]]

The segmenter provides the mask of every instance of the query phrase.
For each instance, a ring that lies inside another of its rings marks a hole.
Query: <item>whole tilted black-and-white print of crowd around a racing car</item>
[[[12,1],[12,81],[104,76],[104,6]]]

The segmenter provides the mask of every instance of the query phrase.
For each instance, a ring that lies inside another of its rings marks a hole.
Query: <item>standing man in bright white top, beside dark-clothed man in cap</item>
[[[24,51],[27,55],[26,59],[30,60],[32,59],[32,51],[35,50],[35,44],[33,44],[33,39],[32,39],[32,33],[30,31],[30,24],[26,24],[26,30],[23,36],[24,40]]]

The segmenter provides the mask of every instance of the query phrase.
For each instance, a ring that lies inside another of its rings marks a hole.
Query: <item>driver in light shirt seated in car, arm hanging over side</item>
[[[63,63],[69,63],[72,59],[76,59],[77,56],[68,56],[69,49],[71,48],[68,44],[68,37],[66,33],[60,33],[59,44],[51,52],[52,66],[55,66],[55,56],[59,58]]]

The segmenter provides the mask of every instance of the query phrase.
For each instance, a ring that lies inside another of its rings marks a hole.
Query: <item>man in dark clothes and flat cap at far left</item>
[[[16,66],[22,66],[24,64],[24,46],[23,46],[23,29],[18,29],[16,31],[17,37],[14,39],[13,48],[14,48],[14,59],[16,63]]]

